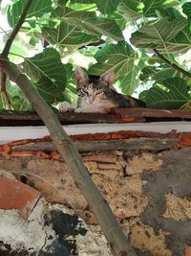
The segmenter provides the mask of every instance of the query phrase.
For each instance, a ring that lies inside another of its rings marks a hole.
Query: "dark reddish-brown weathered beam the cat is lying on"
[[[57,113],[62,125],[96,123],[132,123],[165,120],[191,120],[190,110],[149,109],[143,107],[116,108],[111,113]],[[0,126],[43,125],[32,111],[0,111]]]

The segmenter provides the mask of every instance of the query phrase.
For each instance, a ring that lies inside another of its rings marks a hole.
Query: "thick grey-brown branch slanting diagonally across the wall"
[[[31,81],[25,75],[20,73],[15,64],[7,59],[0,58],[0,68],[10,77],[11,81],[17,83],[49,129],[56,150],[59,151],[66,161],[68,168],[74,177],[74,182],[92,208],[114,255],[136,256],[137,254],[135,250],[128,243],[111,208],[98,191],[95,183],[86,170],[80,154],[74,147],[72,140],[60,125],[56,115],[53,113],[53,109],[38,94],[32,86]],[[62,175],[64,175],[64,173]]]

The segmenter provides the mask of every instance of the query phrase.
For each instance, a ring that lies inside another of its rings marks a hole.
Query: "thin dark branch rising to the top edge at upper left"
[[[27,16],[27,13],[29,12],[30,7],[32,6],[32,2],[33,2],[33,0],[28,0],[20,18],[18,19],[18,22],[17,22],[16,26],[12,30],[11,35],[10,35],[10,37],[8,38],[8,40],[5,44],[5,47],[4,47],[3,52],[1,54],[1,58],[8,58],[10,48],[11,48],[11,44],[12,44],[15,36],[19,32],[22,24],[25,22],[25,17]]]

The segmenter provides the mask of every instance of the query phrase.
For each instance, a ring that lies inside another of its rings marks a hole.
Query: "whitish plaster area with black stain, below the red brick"
[[[40,199],[28,221],[15,210],[0,210],[0,255],[112,256],[99,228],[73,210]]]

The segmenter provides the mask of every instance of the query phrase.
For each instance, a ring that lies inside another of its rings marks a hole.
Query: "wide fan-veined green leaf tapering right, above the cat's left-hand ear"
[[[98,40],[96,35],[82,33],[76,26],[69,25],[65,21],[62,21],[56,28],[43,27],[42,35],[63,50],[65,47],[78,48]]]

